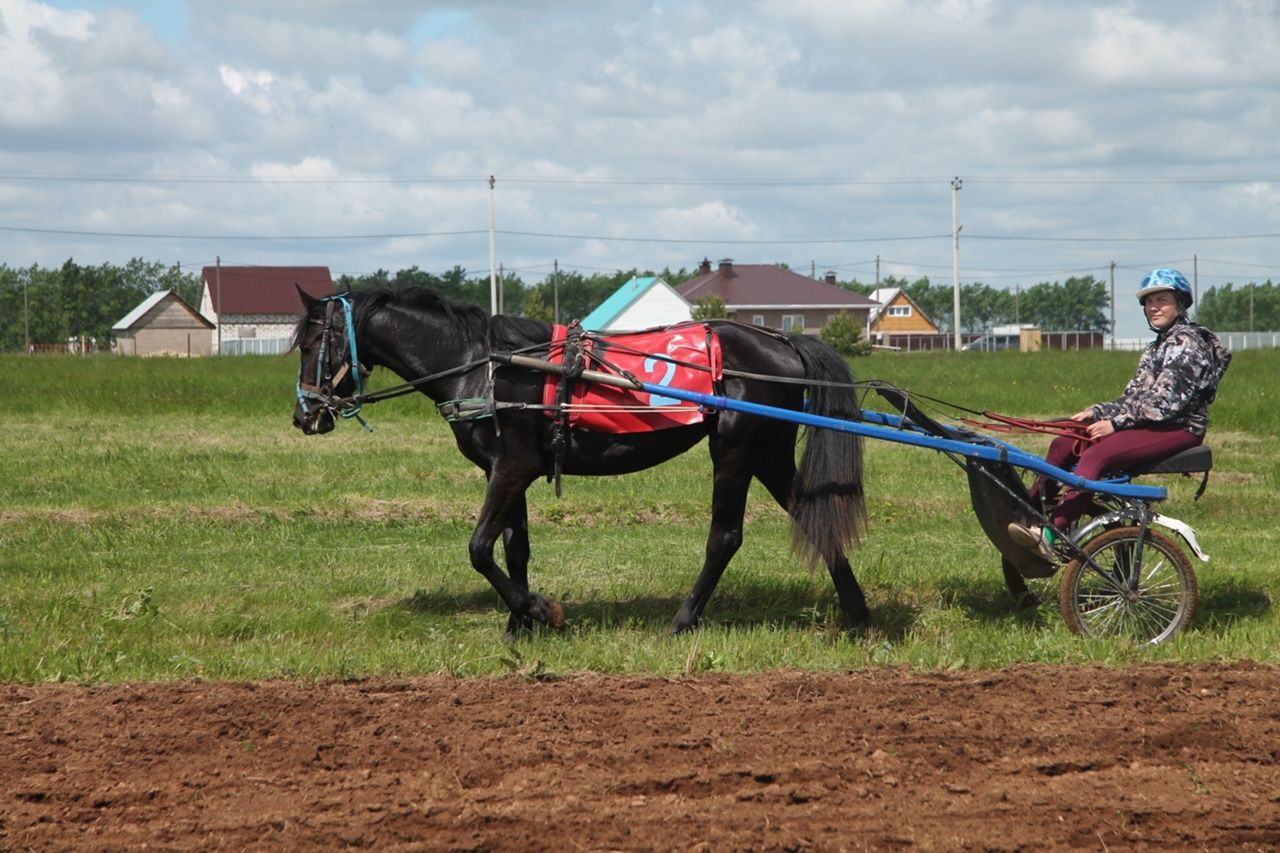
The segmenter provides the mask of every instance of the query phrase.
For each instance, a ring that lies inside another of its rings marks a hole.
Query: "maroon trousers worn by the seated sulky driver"
[[[1197,447],[1203,441],[1203,435],[1193,435],[1176,426],[1139,426],[1111,433],[1076,455],[1076,439],[1059,435],[1048,446],[1044,461],[1078,476],[1098,480],[1124,474],[1143,462],[1167,459],[1189,447]],[[1032,497],[1042,497],[1048,506],[1057,497],[1060,488],[1057,480],[1039,476],[1032,487]],[[1050,521],[1059,530],[1065,530],[1088,508],[1089,501],[1089,492],[1066,489],[1057,506],[1051,507]]]

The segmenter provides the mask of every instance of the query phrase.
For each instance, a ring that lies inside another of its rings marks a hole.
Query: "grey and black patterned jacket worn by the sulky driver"
[[[1116,429],[1172,424],[1204,435],[1208,405],[1230,362],[1217,336],[1180,316],[1143,350],[1124,393],[1093,406],[1093,416],[1110,419]]]

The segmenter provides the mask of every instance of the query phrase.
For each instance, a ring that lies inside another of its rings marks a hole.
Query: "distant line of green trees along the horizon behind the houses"
[[[658,275],[680,284],[698,275],[698,269],[620,270],[584,274],[563,270],[541,282],[526,284],[515,273],[502,275],[502,310],[544,321],[559,321],[590,314],[614,289],[634,275]],[[442,296],[489,307],[489,275],[468,274],[462,266],[430,273],[417,266],[396,273],[378,270],[369,275],[340,275],[339,289],[378,287],[430,287]],[[873,284],[856,279],[838,282],[846,289],[870,293]],[[934,284],[927,277],[914,282],[888,277],[881,287],[901,287],[941,330],[951,330],[951,286]],[[23,350],[26,342],[67,343],[90,338],[105,347],[111,327],[148,295],[175,291],[192,307],[200,307],[200,274],[177,265],[134,257],[128,264],[88,266],[68,260],[59,268],[13,268],[0,264],[0,351]],[[1006,291],[982,283],[960,288],[963,332],[984,332],[993,325],[1034,323],[1044,329],[1106,330],[1107,287],[1092,275],[1065,282],[1041,282]],[[703,316],[718,314],[718,306],[698,306]],[[722,307],[722,306],[719,306]],[[1197,319],[1222,330],[1280,330],[1280,288],[1265,284],[1224,284],[1201,295]]]

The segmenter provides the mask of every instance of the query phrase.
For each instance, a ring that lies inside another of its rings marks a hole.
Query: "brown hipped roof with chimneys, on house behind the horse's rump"
[[[876,302],[861,293],[828,282],[800,275],[772,264],[735,264],[722,260],[710,270],[703,263],[701,274],[676,287],[689,302],[717,296],[730,309],[824,307],[874,309]]]

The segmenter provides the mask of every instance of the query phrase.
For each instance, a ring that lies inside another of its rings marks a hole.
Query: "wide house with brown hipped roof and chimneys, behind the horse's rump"
[[[876,302],[836,284],[836,274],[814,279],[772,264],[719,261],[717,269],[704,260],[698,277],[676,287],[690,305],[699,300],[723,300],[728,315],[753,325],[783,332],[817,334],[836,314],[849,314],[864,329]]]

